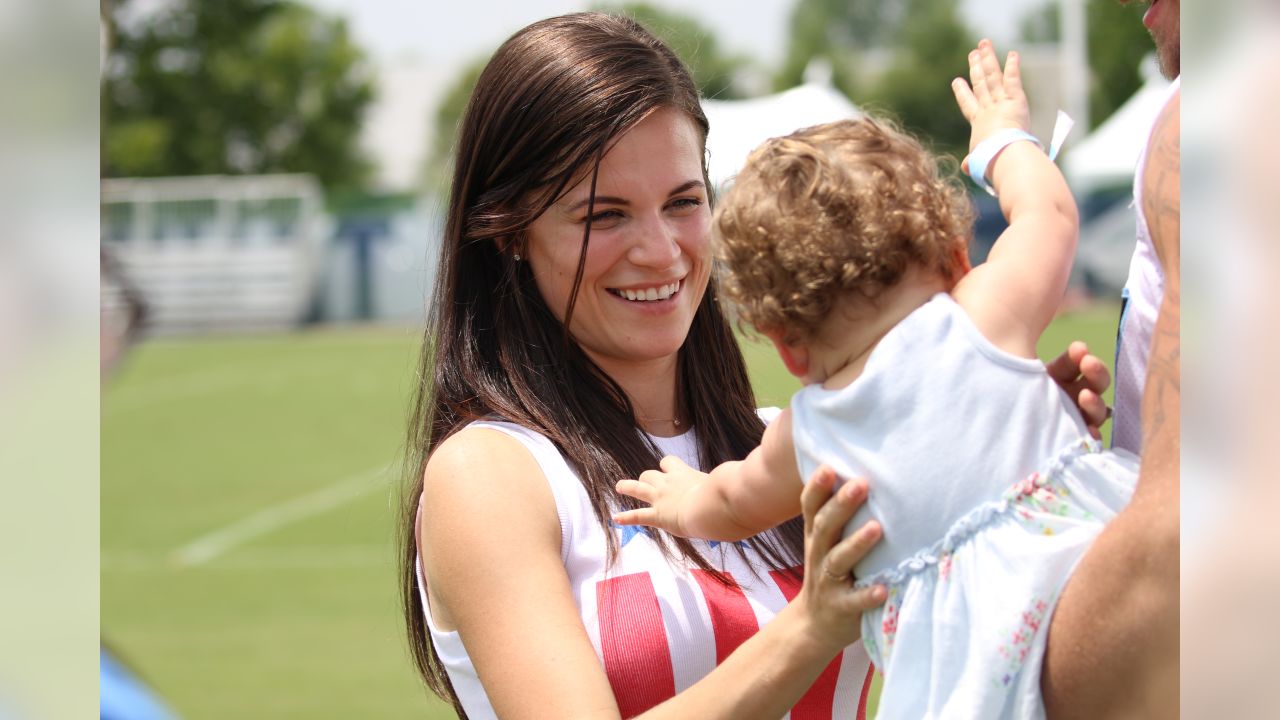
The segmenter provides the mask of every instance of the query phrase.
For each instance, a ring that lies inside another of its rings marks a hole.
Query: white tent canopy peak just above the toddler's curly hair
[[[716,187],[732,179],[751,150],[771,137],[860,115],[838,90],[818,82],[751,100],[704,100],[703,110],[712,126],[707,151]]]

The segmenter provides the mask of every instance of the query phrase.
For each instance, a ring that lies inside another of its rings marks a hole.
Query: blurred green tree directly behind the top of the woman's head
[[[689,67],[703,97],[733,100],[748,95],[741,87],[740,76],[751,60],[723,51],[712,31],[692,17],[648,3],[603,4],[594,9],[634,18],[662,38]],[[458,123],[462,122],[471,91],[488,61],[489,56],[485,55],[468,63],[435,110],[435,128],[425,172],[430,191],[440,195],[448,192],[449,164]]]

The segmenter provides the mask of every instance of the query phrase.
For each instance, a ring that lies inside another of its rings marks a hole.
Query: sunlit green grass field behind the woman
[[[1110,363],[1116,313],[1064,315]],[[160,340],[104,389],[102,634],[188,719],[452,717],[420,689],[396,592],[419,334]],[[744,343],[762,405],[797,387]]]

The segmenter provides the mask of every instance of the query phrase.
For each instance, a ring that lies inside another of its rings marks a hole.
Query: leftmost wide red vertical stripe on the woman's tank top
[[[600,653],[623,717],[634,717],[676,694],[667,629],[649,573],[595,585]]]

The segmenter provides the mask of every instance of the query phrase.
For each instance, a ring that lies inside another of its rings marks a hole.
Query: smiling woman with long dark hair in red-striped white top
[[[622,18],[534,23],[477,81],[402,573],[419,667],[462,716],[854,717],[865,702],[869,664],[847,646],[883,597],[849,573],[878,528],[836,542],[864,483],[824,502],[819,474],[804,523],[740,544],[608,521],[632,506],[617,479],[667,454],[740,459],[763,432],[708,287],[707,132],[687,70]]]

